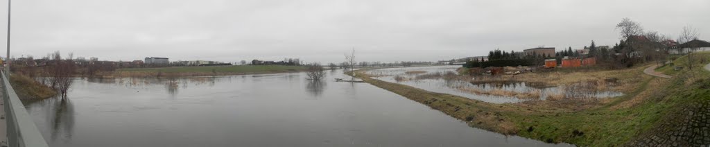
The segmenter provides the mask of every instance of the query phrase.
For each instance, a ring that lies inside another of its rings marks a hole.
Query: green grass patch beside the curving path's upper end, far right
[[[693,58],[695,60],[695,65],[693,68],[702,68],[706,64],[708,64],[707,61],[710,59],[710,52],[698,52],[698,53],[693,53]],[[705,59],[705,60],[702,60]],[[675,67],[683,67],[683,70],[689,70],[688,68],[688,56],[684,55],[677,60],[673,60],[672,64],[666,64],[660,67],[657,67],[655,70],[656,72],[661,72],[665,75],[676,75],[682,70],[675,70]]]

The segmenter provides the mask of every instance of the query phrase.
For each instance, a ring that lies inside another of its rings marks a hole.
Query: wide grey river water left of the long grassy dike
[[[471,128],[328,72],[83,78],[26,108],[50,146],[569,146]]]

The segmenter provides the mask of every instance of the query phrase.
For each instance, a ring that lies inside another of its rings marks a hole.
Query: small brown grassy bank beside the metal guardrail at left
[[[10,76],[10,84],[20,99],[36,100],[53,97],[57,92],[30,77],[13,74]]]

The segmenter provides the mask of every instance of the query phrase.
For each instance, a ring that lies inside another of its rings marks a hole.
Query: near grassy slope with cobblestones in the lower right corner
[[[706,59],[710,59],[706,57]],[[707,146],[710,143],[710,72],[702,68],[677,72],[629,115],[647,117],[645,130],[628,146]]]

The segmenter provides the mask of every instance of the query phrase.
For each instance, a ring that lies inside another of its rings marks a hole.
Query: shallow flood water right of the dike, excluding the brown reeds
[[[528,100],[545,99],[550,94],[559,94],[564,92],[564,87],[535,87],[528,85],[525,82],[511,82],[505,84],[471,84],[469,80],[452,79],[447,80],[441,78],[417,78],[422,75],[440,73],[442,75],[447,72],[456,73],[457,68],[461,65],[445,65],[445,66],[425,66],[425,67],[396,67],[396,68],[384,68],[378,70],[369,70],[368,74],[376,75],[374,77],[377,80],[383,80],[386,82],[395,82],[403,85],[409,85],[412,87],[417,87],[420,89],[425,89],[430,92],[439,92],[446,94],[454,94],[461,97],[468,97],[469,99],[477,99],[484,102],[491,103],[516,103],[525,102]],[[423,73],[410,73],[413,71],[422,71]],[[405,77],[408,80],[396,80],[395,76]],[[481,91],[491,91],[491,90],[503,90],[510,92],[540,92],[540,97],[536,99],[520,99],[518,97],[506,97],[506,96],[495,96],[488,94],[474,94],[471,92],[464,92],[459,88],[471,88],[479,89]],[[600,92],[584,92],[581,93],[585,96],[604,98],[604,97],[618,97],[623,95],[621,92],[611,92],[611,91],[600,91]]]

